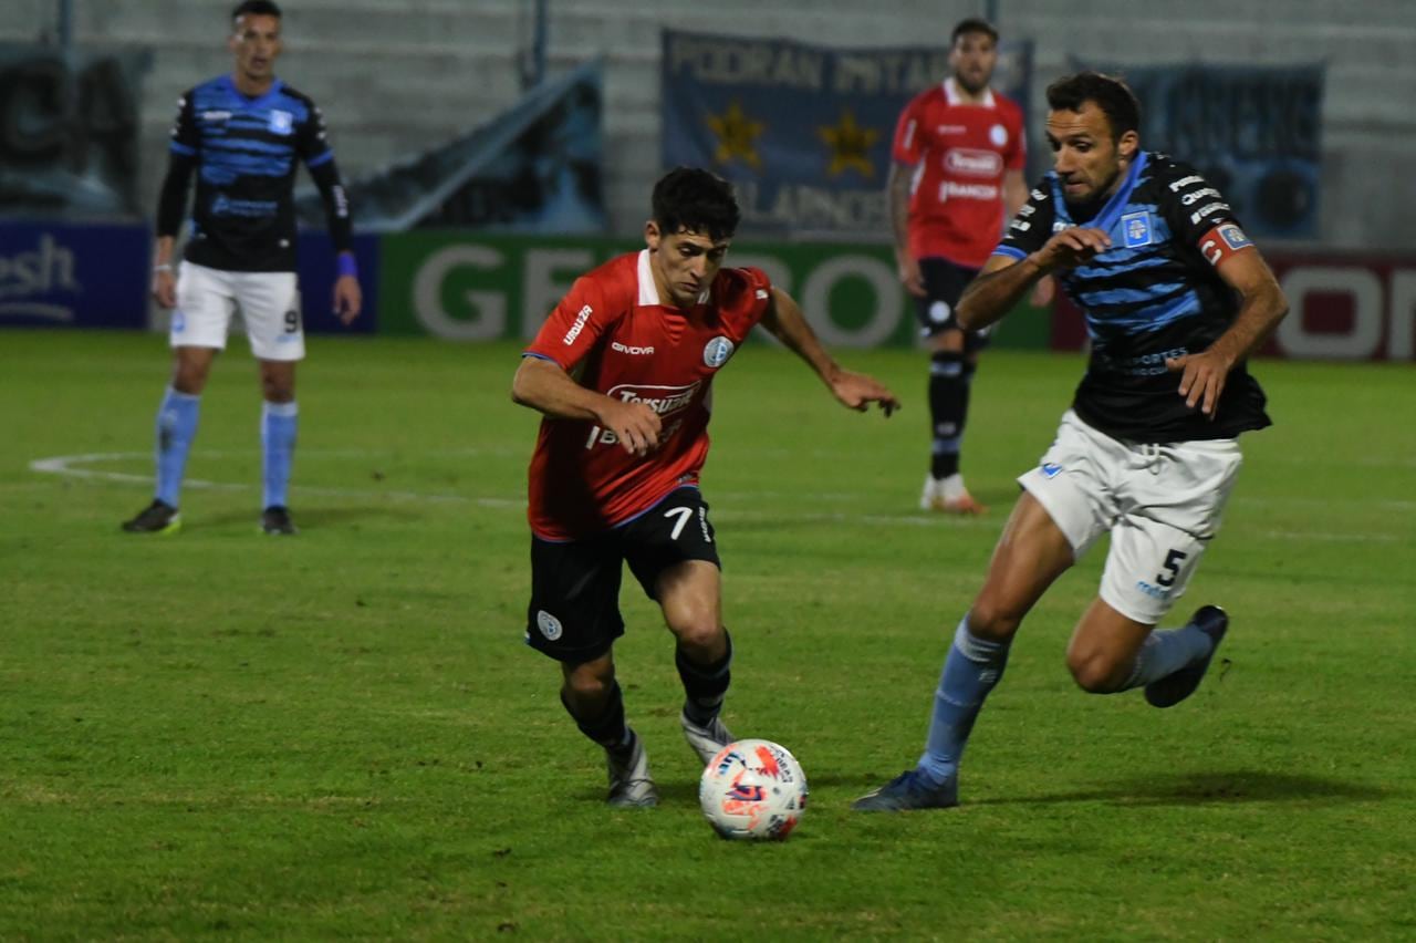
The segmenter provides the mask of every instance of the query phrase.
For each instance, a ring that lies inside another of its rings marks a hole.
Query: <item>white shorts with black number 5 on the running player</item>
[[[1075,559],[1110,531],[1100,596],[1154,626],[1219,531],[1242,463],[1238,439],[1123,442],[1068,409],[1056,442],[1018,484],[1046,508]]]

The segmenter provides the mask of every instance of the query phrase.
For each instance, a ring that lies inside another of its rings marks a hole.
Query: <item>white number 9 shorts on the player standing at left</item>
[[[169,333],[171,345],[225,350],[236,310],[252,354],[261,360],[304,360],[295,272],[225,272],[183,262]]]

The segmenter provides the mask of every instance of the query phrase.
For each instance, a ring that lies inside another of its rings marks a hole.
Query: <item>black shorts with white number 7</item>
[[[632,521],[583,541],[532,535],[527,644],[568,664],[599,658],[624,634],[622,564],[656,599],[658,575],[690,559],[722,569],[708,503],[695,487],[670,491]]]

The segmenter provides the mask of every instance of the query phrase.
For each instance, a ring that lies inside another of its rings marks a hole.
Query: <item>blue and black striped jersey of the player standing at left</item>
[[[174,154],[197,163],[197,197],[184,258],[235,272],[295,270],[295,171],[334,159],[309,96],[279,79],[261,98],[229,75],[181,98]]]

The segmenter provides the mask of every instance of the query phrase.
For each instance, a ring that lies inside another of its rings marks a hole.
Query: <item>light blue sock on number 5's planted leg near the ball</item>
[[[959,770],[959,759],[969,743],[969,733],[1003,668],[1008,664],[1007,641],[980,639],[969,631],[969,616],[954,631],[944,670],[935,691],[935,715],[929,722],[929,739],[919,758],[919,770],[936,784]]]

